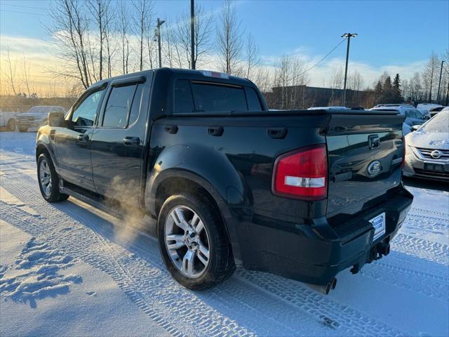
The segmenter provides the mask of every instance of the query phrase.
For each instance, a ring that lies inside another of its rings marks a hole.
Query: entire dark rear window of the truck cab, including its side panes
[[[178,79],[175,83],[177,113],[262,111],[254,88]]]

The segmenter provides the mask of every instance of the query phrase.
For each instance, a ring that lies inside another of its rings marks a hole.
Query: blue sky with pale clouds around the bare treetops
[[[112,0],[112,6],[115,3]],[[215,14],[215,31],[222,2],[199,3]],[[241,28],[253,34],[262,65],[267,67],[281,55],[298,55],[314,65],[339,43],[343,33],[353,32],[358,37],[351,39],[350,69],[371,85],[384,71],[411,77],[422,70],[432,51],[441,55],[449,44],[449,1],[242,0],[235,4]],[[25,56],[36,86],[54,79],[48,69],[60,62],[46,30],[52,25],[49,8],[47,0],[0,0],[2,69],[7,49],[13,60]],[[188,0],[154,1],[154,18],[170,22],[188,9]],[[330,72],[344,65],[345,47],[341,44],[311,70],[311,85],[329,84]]]

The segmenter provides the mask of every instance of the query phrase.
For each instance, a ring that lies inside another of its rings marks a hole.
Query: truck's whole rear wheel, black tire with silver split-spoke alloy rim
[[[235,270],[220,214],[191,194],[169,197],[158,219],[159,249],[170,274],[192,290],[220,284]]]

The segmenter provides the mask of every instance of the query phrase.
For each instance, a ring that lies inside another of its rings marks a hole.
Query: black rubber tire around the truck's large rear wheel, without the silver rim
[[[170,211],[177,206],[187,206],[192,209],[203,222],[208,233],[209,262],[206,270],[199,277],[190,278],[183,275],[170,258],[165,239],[166,219]],[[225,226],[220,214],[207,199],[195,194],[177,194],[169,197],[163,203],[157,223],[159,250],[163,262],[173,278],[192,290],[204,290],[216,286],[229,278],[236,266],[232,256],[232,248],[227,238]]]

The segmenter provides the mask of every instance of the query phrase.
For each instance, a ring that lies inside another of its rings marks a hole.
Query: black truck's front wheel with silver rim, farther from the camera
[[[42,153],[37,160],[37,180],[43,199],[48,202],[66,200],[69,196],[59,192],[59,178],[48,154]]]

